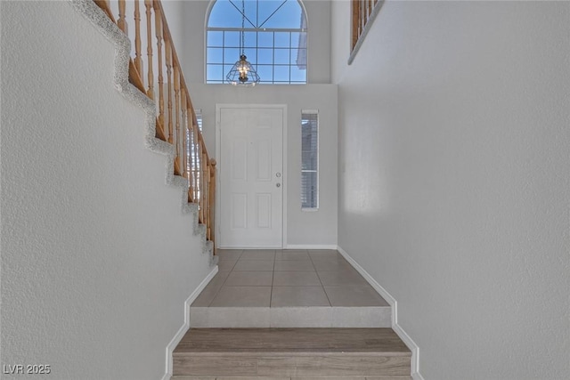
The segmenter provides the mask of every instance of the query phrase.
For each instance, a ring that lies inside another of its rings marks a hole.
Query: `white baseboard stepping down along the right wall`
[[[419,373],[419,347],[411,337],[403,330],[403,328],[398,324],[398,303],[395,298],[390,295],[387,290],[382,287],[372,276],[360,266],[359,263],[356,263],[354,259],[346,253],[346,251],[338,246],[338,252],[340,255],[346,259],[348,263],[350,263],[356,271],[358,271],[364,279],[371,284],[371,287],[379,293],[386,300],[387,303],[390,304],[392,307],[392,329],[396,333],[397,336],[402,339],[403,343],[410,349],[411,351],[411,376],[414,380],[424,380],[423,376]]]

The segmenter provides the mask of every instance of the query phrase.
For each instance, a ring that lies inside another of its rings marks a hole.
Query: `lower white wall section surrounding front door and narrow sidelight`
[[[338,210],[338,127],[336,85],[190,85],[195,108],[202,109],[208,154],[216,157],[216,103],[287,104],[288,246],[336,246]],[[301,110],[319,110],[319,210],[301,210]]]

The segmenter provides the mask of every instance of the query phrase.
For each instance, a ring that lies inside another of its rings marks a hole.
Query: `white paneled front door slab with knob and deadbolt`
[[[219,247],[281,248],[284,107],[220,106]]]

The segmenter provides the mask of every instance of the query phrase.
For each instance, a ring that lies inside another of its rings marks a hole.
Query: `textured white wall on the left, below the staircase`
[[[2,364],[158,379],[208,272],[114,47],[67,2],[2,2]],[[3,378],[36,378],[4,375]]]

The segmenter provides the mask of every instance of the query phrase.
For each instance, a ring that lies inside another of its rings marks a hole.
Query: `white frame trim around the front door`
[[[287,124],[287,104],[236,104],[236,103],[216,103],[216,205],[220,205],[221,196],[221,166],[222,159],[220,156],[222,150],[222,125],[220,124],[220,119],[222,116],[222,109],[282,109],[283,110],[283,135],[281,136],[283,142],[283,171],[282,171],[282,185],[283,185],[283,209],[281,214],[283,215],[282,231],[281,231],[281,248],[287,247],[287,189],[289,188],[289,182],[287,178],[287,136],[288,136],[288,124]],[[220,233],[220,207],[216,206],[216,234]],[[216,248],[217,248],[216,239]],[[240,247],[236,247],[240,248]],[[245,248],[245,247],[241,247]]]

